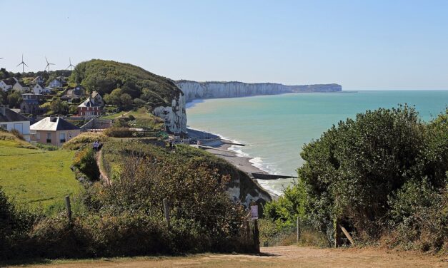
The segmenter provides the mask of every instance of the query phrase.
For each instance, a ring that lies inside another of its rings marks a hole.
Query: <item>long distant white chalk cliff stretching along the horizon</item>
[[[285,86],[279,83],[196,82],[179,80],[176,85],[184,93],[186,102],[196,98],[234,98],[301,92],[342,91],[338,84]]]

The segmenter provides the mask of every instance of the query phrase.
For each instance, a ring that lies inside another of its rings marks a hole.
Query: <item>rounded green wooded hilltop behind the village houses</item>
[[[76,65],[71,81],[81,83],[88,91],[98,91],[101,96],[119,88],[121,94],[131,99],[143,100],[150,108],[171,105],[171,100],[181,91],[173,81],[129,63],[93,59]],[[138,101],[139,101],[138,100]]]

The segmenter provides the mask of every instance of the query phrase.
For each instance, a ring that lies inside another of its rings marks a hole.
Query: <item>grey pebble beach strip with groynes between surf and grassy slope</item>
[[[213,155],[216,155],[218,158],[227,160],[227,162],[234,165],[235,168],[238,168],[239,170],[242,170],[243,172],[249,173],[249,177],[252,177],[252,175],[250,175],[250,173],[269,174],[268,172],[254,166],[254,164],[251,162],[251,160],[254,158],[240,156],[240,155],[238,155],[237,152],[231,150],[230,148],[232,146],[237,146],[237,145],[229,144],[229,143],[235,143],[232,140],[227,140],[225,138],[220,137],[219,135],[207,133],[203,130],[195,130],[195,129],[191,129],[191,128],[188,128],[188,135],[190,138],[219,138],[219,140],[221,140],[221,143],[219,145],[207,146],[210,148],[201,149],[201,150],[205,150],[209,153],[212,153]],[[266,183],[260,183],[260,180],[257,180],[254,178],[252,178],[252,180],[257,182],[257,184],[260,187],[262,187],[264,190],[269,192],[269,195],[271,195],[273,198],[279,197],[279,193],[274,192],[274,190],[272,190],[270,187],[266,187]],[[266,181],[266,180],[262,180],[262,181]]]

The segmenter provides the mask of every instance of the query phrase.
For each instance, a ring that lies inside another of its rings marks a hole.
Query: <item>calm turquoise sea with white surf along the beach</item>
[[[414,106],[424,121],[444,112],[448,90],[342,91],[340,93],[287,93],[243,98],[216,98],[187,103],[189,128],[243,143],[232,146],[239,156],[251,158],[257,168],[277,175],[297,176],[303,165],[302,146],[318,139],[340,120],[377,108]],[[282,195],[292,179],[258,180],[262,187]]]

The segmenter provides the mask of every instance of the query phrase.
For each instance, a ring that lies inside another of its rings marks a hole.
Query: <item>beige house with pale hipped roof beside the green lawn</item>
[[[81,133],[81,129],[60,117],[46,117],[30,127],[31,141],[61,146]]]

